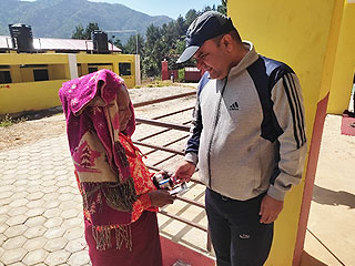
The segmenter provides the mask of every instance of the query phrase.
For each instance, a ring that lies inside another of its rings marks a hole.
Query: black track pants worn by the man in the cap
[[[264,265],[274,224],[258,222],[263,196],[236,201],[206,188],[205,207],[217,266]]]

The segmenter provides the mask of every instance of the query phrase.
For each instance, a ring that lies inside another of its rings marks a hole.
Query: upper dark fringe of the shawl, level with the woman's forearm
[[[83,208],[93,212],[102,212],[103,198],[108,206],[121,212],[132,212],[133,203],[138,200],[132,177],[123,183],[81,183]]]

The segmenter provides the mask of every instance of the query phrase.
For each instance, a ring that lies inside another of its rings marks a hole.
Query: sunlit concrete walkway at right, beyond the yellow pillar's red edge
[[[304,266],[355,265],[355,136],[327,115],[308,218]]]

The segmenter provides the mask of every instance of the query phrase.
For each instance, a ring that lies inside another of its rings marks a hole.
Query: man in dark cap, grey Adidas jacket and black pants
[[[290,66],[242,42],[232,20],[209,11],[187,29],[200,81],[185,161],[175,176],[189,181],[199,162],[219,266],[263,265],[273,223],[306,154],[301,86]]]

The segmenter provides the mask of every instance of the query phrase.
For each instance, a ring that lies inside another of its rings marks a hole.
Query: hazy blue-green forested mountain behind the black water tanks
[[[166,16],[151,17],[119,3],[88,0],[0,0],[0,34],[9,35],[9,24],[32,27],[34,38],[71,38],[78,24],[97,22],[103,30],[134,29],[145,34],[148,25],[172,21]]]

